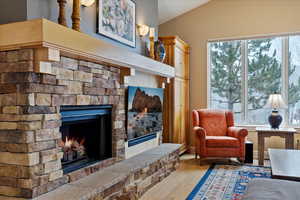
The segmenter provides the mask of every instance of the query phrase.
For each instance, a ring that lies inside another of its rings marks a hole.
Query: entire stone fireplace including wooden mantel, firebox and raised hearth
[[[125,142],[125,85],[173,67],[45,19],[0,32],[0,199],[136,199],[176,169],[180,145]]]

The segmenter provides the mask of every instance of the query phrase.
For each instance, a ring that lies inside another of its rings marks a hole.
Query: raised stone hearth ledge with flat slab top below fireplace
[[[35,200],[138,199],[179,164],[180,144],[162,144]]]

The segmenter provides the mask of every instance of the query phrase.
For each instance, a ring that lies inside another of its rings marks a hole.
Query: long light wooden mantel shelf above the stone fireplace
[[[174,68],[46,19],[0,25],[0,51],[51,48],[60,55],[174,77]]]

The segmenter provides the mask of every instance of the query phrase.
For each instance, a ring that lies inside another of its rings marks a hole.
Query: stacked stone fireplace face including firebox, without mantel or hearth
[[[0,197],[33,198],[124,159],[120,70],[35,50],[0,52]]]

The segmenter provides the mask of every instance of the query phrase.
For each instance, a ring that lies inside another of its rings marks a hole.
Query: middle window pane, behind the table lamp
[[[248,40],[248,120],[267,124],[270,110],[264,108],[269,95],[281,92],[281,38]]]

